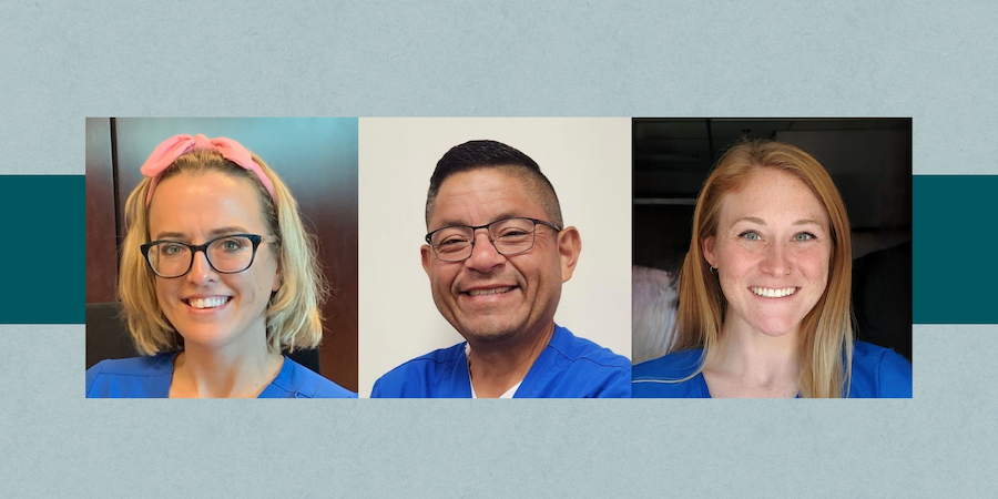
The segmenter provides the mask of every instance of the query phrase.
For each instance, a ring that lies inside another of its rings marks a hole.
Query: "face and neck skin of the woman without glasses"
[[[828,283],[829,226],[811,189],[780,170],[762,169],[724,196],[716,234],[702,244],[727,299],[717,355],[704,366],[712,396],[796,396],[797,335]],[[794,292],[765,297],[760,287]]]

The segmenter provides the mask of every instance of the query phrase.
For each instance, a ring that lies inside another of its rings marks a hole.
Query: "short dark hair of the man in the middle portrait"
[[[496,141],[465,142],[450,147],[450,151],[440,157],[434,175],[430,176],[430,189],[426,194],[427,225],[429,225],[430,213],[434,211],[437,192],[440,191],[440,185],[445,180],[456,173],[488,167],[507,170],[507,173],[518,176],[533,187],[533,194],[550,217],[550,222],[559,227],[564,227],[558,194],[554,193],[554,186],[551,185],[548,177],[541,173],[537,162],[516,147]]]

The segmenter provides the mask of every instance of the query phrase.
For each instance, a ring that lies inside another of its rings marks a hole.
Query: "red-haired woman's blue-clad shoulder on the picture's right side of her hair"
[[[851,398],[910,398],[912,363],[890,348],[853,345]]]

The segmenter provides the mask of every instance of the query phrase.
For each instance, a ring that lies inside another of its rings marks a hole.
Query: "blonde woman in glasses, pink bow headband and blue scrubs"
[[[282,355],[322,340],[324,285],[297,203],[225,138],[176,135],[125,205],[119,295],[142,357],[86,370],[88,397],[356,397]]]

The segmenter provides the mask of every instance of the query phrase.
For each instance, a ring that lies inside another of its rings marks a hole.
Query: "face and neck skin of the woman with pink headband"
[[[181,173],[156,186],[150,204],[151,241],[203,244],[225,234],[269,235],[258,194],[247,179],[220,172]],[[156,277],[156,299],[184,338],[174,359],[171,397],[256,397],[276,377],[284,358],[267,352],[264,310],[281,285],[271,244],[237,274],[212,269],[203,252],[181,277]],[[197,309],[192,297],[226,297]]]

